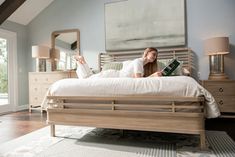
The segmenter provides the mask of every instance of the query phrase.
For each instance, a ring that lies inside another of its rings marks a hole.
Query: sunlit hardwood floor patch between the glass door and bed
[[[0,116],[0,144],[46,126],[46,113],[28,110]]]

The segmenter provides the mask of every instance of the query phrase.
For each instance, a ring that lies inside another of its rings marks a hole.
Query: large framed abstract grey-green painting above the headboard
[[[128,0],[105,4],[105,50],[185,45],[185,0]]]

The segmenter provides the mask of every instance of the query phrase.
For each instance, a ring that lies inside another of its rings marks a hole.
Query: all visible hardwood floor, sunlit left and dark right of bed
[[[0,116],[0,144],[46,126],[46,113],[28,110]],[[235,141],[235,118],[206,120],[207,130],[226,131]]]

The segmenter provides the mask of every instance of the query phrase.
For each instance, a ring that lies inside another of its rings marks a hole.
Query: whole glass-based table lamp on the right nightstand
[[[205,40],[204,51],[209,55],[209,80],[228,79],[224,73],[224,55],[229,53],[229,38],[215,37]]]

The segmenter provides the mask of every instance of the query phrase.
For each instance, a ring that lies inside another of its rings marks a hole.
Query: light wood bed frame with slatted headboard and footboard
[[[139,57],[141,53],[101,53],[99,65]],[[178,58],[192,71],[188,48],[160,50],[158,59]],[[55,125],[80,125],[98,128],[160,131],[200,135],[205,149],[204,97],[123,95],[115,97],[48,96],[47,123],[51,136]]]

